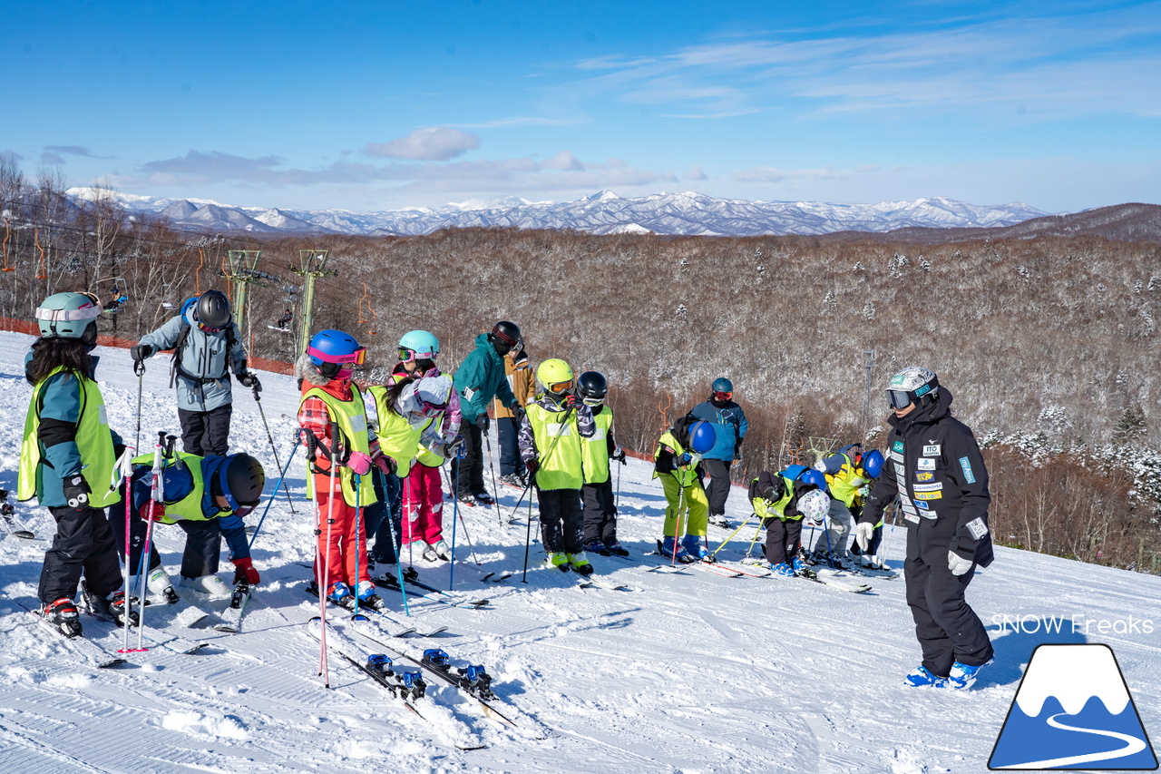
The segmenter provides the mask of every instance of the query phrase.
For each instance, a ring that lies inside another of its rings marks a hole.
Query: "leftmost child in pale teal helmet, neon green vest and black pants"
[[[121,437],[104,418],[94,381],[96,317],[88,293],[55,293],[36,309],[41,337],[24,361],[33,400],[24,418],[16,497],[34,496],[57,523],[44,554],[37,596],[41,616],[65,637],[80,637],[77,587],[94,612],[124,624],[121,565],[104,508],[121,501],[109,481]],[[122,446],[123,447],[123,446]],[[131,614],[136,621],[136,614]]]

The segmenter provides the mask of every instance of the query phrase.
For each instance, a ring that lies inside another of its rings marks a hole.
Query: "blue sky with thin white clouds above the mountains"
[[[1161,2],[45,0],[5,27],[0,152],[128,194],[1161,203]]]

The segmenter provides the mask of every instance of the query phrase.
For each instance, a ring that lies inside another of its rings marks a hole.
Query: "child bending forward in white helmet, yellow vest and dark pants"
[[[815,483],[795,480],[787,471],[763,471],[750,482],[750,506],[766,528],[766,561],[776,575],[794,575],[806,565],[798,552],[802,546],[802,518],[821,524],[830,497]]]

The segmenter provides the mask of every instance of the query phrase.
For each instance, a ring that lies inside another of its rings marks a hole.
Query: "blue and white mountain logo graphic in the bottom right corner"
[[[1112,648],[1039,645],[988,768],[1155,771],[1153,745]]]

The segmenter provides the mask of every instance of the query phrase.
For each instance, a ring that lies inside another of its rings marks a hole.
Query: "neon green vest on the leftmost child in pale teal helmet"
[[[64,371],[57,368],[33,389],[33,400],[24,417],[24,439],[20,445],[20,476],[16,499],[30,500],[41,489],[41,463],[44,450],[38,438],[41,429],[41,393],[49,379]],[[80,410],[77,415],[77,451],[81,459],[81,475],[88,483],[91,508],[104,508],[121,502],[120,490],[109,492],[116,457],[113,453],[113,433],[104,416],[104,399],[96,382],[88,377],[72,374],[80,389]]]

